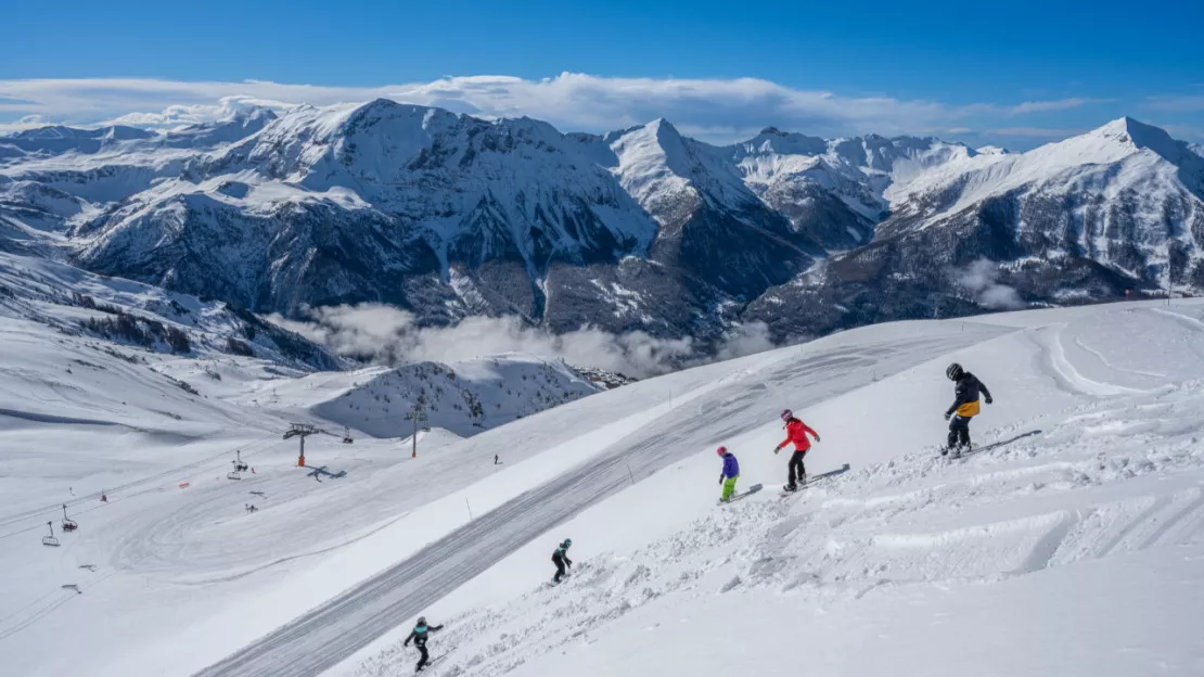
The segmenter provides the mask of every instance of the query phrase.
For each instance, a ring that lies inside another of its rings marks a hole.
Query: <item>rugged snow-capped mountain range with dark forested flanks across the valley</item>
[[[1129,118],[1026,153],[561,134],[388,100],[0,137],[0,249],[285,316],[380,301],[431,324],[807,336],[1200,290],[1202,242],[1198,147]]]

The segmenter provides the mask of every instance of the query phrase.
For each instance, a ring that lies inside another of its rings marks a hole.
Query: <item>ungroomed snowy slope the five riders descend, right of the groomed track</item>
[[[780,425],[733,430],[766,490],[716,506],[703,448],[583,511],[421,610],[448,623],[433,672],[1199,675],[1202,314],[978,318],[1013,331],[805,410],[808,465],[836,473],[789,499]],[[996,394],[960,460],[931,443],[951,359]],[[574,576],[515,594],[566,536]],[[400,638],[332,673],[411,673]]]

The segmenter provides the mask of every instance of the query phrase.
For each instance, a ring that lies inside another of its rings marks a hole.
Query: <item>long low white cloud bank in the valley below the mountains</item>
[[[518,352],[645,377],[775,347],[761,323],[734,328],[712,358],[702,355],[689,337],[657,338],[643,331],[615,335],[589,328],[553,335],[517,317],[470,317],[453,326],[418,326],[411,313],[379,304],[313,308],[309,322],[271,319],[340,355],[389,365]]]

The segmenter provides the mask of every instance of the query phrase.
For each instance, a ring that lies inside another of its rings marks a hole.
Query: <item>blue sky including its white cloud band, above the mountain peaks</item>
[[[2,17],[10,125],[388,95],[566,130],[667,117],[713,140],[775,124],[1023,148],[1129,114],[1204,141],[1200,1],[59,1]],[[539,87],[561,73],[580,76]]]

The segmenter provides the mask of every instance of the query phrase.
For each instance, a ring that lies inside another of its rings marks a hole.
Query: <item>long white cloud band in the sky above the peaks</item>
[[[384,87],[321,87],[247,82],[164,80],[0,81],[0,114],[41,114],[71,124],[119,122],[171,126],[217,119],[236,105],[284,108],[386,98],[441,106],[482,117],[530,116],[557,128],[603,131],[667,118],[683,131],[712,141],[746,139],[773,124],[822,136],[936,134],[969,129],[981,116],[1064,110],[1091,99],[1027,101],[1016,106],[891,96],[848,96],[784,87],[757,78],[677,80],[561,73],[543,80],[509,76],[445,77]]]

